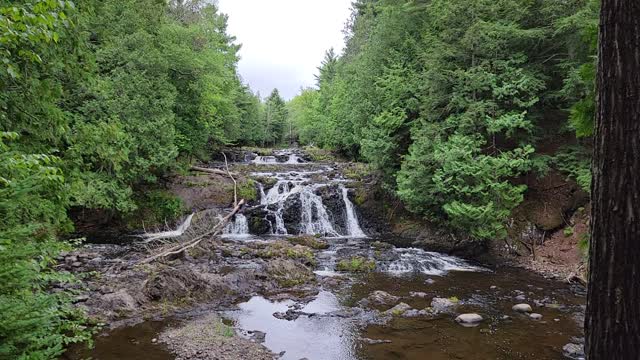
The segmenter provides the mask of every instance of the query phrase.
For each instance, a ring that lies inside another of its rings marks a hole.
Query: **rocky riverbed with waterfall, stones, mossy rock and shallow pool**
[[[103,325],[95,349],[68,358],[581,356],[579,286],[382,235],[352,180],[303,153],[236,161],[261,196],[226,235],[148,264],[154,249],[139,243],[87,245],[60,259],[85,274],[77,305]],[[194,216],[190,231],[226,211]]]

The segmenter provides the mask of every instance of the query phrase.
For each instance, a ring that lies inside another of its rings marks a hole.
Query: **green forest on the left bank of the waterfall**
[[[0,3],[0,358],[88,339],[72,294],[47,291],[75,281],[52,268],[71,209],[178,211],[149,190],[166,174],[282,142],[284,100],[242,83],[226,22],[204,1]]]

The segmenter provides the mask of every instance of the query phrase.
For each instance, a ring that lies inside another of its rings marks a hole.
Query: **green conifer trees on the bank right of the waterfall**
[[[514,180],[556,165],[534,151],[548,114],[591,129],[596,29],[595,0],[356,1],[293,123],[301,143],[370,163],[410,211],[501,238]]]

